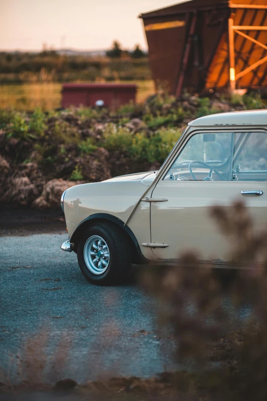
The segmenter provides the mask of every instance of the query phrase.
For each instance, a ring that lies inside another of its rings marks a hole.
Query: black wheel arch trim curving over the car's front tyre
[[[148,259],[144,257],[140,249],[139,243],[136,239],[135,234],[132,230],[124,225],[124,222],[116,216],[110,215],[108,213],[96,213],[84,219],[76,228],[73,235],[71,236],[70,242],[73,243],[73,250],[76,252],[77,244],[79,238],[87,227],[90,227],[96,222],[109,222],[120,228],[120,230],[126,234],[126,238],[129,240],[132,250],[133,250],[133,263],[144,264],[148,263]]]

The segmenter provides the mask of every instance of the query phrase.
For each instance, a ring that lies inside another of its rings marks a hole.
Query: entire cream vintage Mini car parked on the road
[[[267,110],[214,114],[187,129],[157,172],[67,189],[61,206],[85,278],[108,283],[131,263],[229,263],[229,243],[209,217],[211,205],[245,199],[257,229],[267,226]],[[233,246],[234,244],[232,244]],[[260,262],[260,261],[259,261]]]

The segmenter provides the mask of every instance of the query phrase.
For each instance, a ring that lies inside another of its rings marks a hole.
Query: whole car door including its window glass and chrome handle
[[[266,155],[265,131],[191,134],[151,193],[161,200],[151,202],[154,256],[177,260],[193,249],[199,259],[228,262],[229,242],[210,217],[212,205],[245,201],[256,229],[266,228]]]

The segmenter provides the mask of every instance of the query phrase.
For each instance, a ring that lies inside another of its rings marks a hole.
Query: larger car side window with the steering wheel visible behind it
[[[164,180],[229,181],[232,179],[234,133],[193,135],[172,164]]]

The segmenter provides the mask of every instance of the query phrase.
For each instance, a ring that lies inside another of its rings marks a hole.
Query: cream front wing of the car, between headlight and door
[[[132,209],[140,200],[146,187],[139,180],[108,180],[91,184],[81,184],[68,189],[64,196],[64,213],[68,220],[67,227],[70,238],[76,227],[88,216],[97,213],[108,213],[126,222]],[[135,219],[128,227],[138,242],[150,238],[150,205],[146,202],[138,204]],[[144,249],[145,258],[150,258],[151,249]]]

